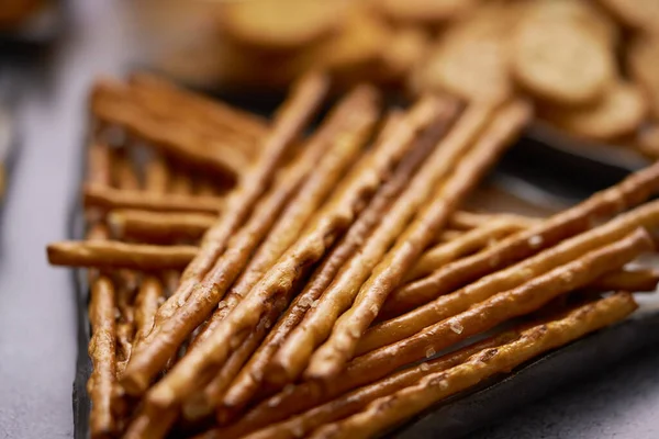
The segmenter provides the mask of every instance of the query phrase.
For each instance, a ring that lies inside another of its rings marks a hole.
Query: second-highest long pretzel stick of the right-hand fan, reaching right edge
[[[659,201],[637,207],[607,224],[577,235],[505,270],[487,275],[461,290],[442,295],[414,311],[373,326],[366,331],[357,351],[361,354],[402,340],[429,325],[465,312],[474,303],[488,300],[493,294],[522,285],[535,277],[568,263],[585,251],[613,244],[639,226],[655,227],[658,224]]]

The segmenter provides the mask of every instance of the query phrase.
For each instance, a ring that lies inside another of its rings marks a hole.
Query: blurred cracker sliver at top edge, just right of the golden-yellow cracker
[[[472,11],[477,0],[376,0],[376,7],[392,21],[442,23]]]

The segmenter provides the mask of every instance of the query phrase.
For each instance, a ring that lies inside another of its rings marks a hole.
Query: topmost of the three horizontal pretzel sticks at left
[[[86,207],[108,210],[131,209],[154,212],[194,212],[217,214],[225,200],[220,196],[183,194],[147,194],[144,191],[119,190],[98,184],[87,184],[83,189]]]

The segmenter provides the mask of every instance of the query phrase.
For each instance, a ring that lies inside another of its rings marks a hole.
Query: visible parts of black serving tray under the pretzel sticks
[[[243,106],[253,109],[254,104]],[[502,159],[490,177],[490,183],[529,204],[556,210],[612,185],[647,165],[630,151],[623,151],[625,158],[614,155],[617,153],[621,151],[572,144],[566,142],[565,136],[557,137],[551,130],[532,126]],[[72,238],[82,237],[82,221],[80,205],[76,204],[70,221]],[[87,439],[90,401],[86,383],[91,372],[87,356],[90,336],[88,284],[81,270],[75,270],[72,279],[78,304],[78,359],[72,394],[75,438]],[[654,344],[659,344],[659,307],[641,305],[627,320],[550,351],[469,393],[456,395],[386,436],[462,438],[561,385],[601,371]]]

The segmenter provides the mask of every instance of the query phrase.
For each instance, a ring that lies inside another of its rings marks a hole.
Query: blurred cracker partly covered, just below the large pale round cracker
[[[555,110],[550,119],[579,136],[613,139],[636,131],[647,114],[644,93],[634,83],[618,82],[596,104]]]

